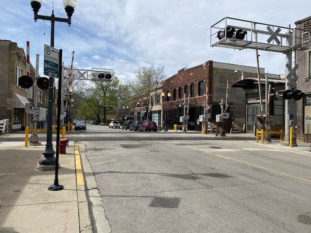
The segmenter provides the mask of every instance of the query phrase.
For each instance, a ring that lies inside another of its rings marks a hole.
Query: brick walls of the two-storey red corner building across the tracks
[[[190,95],[190,84],[194,83],[195,97],[190,98],[193,106],[202,106],[203,101],[206,100],[208,91],[208,102],[210,105],[219,105],[226,99],[227,80],[229,80],[228,87],[228,103],[230,104],[230,117],[234,116],[236,122],[245,122],[245,94],[242,88],[231,87],[233,83],[241,79],[242,73],[234,74],[236,68],[243,70],[244,78],[257,78],[257,67],[245,67],[234,64],[218,63],[207,61],[202,65],[183,68],[165,80],[163,83],[163,91],[170,90],[173,100],[173,89],[176,89],[178,98],[178,88],[182,87],[182,94],[184,95],[184,86],[188,86],[188,95]],[[260,68],[260,78],[264,79],[264,69]],[[204,95],[198,96],[198,83],[204,81]],[[208,90],[206,89],[208,88]],[[178,103],[183,103],[184,100],[175,100],[168,102],[168,109],[176,108]]]

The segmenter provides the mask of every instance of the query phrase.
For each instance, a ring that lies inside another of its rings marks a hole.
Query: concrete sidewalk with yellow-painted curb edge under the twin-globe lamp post
[[[0,233],[92,233],[85,185],[77,183],[84,181],[83,169],[76,172],[79,149],[69,143],[59,155],[58,183],[64,189],[58,191],[48,190],[55,170],[36,169],[44,149],[45,144],[0,143]]]

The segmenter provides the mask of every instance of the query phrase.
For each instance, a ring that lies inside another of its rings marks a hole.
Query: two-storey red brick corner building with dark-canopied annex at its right
[[[241,72],[234,73],[235,69],[241,69],[243,83],[241,82]],[[284,78],[280,75],[266,74],[264,68],[260,68],[260,82],[267,76],[269,84],[276,90],[284,88]],[[209,113],[211,118],[208,121],[216,123],[216,115],[221,114],[220,103],[227,100],[229,104],[229,118],[224,121],[224,129],[229,132],[232,121],[245,126],[247,133],[254,133],[254,125],[258,123],[256,114],[260,113],[260,100],[257,80],[257,67],[246,67],[234,64],[218,63],[207,61],[196,67],[183,68],[177,74],[163,82],[163,92],[171,93],[167,102],[167,128],[173,129],[174,124],[180,124],[180,116],[184,116],[183,104],[189,106],[188,129],[201,131],[202,123],[199,116],[204,115],[204,102],[211,106]],[[246,82],[247,81],[247,82]],[[229,82],[227,88],[227,82]],[[232,87],[235,84],[236,87]],[[247,86],[243,86],[247,85]],[[238,88],[237,88],[238,87]],[[240,88],[239,88],[240,87]],[[265,98],[265,83],[261,84],[262,98]],[[228,91],[227,91],[228,89]],[[228,94],[227,94],[228,93]],[[186,100],[184,98],[186,96]],[[190,97],[190,99],[189,99]],[[270,98],[270,115],[276,115],[276,129],[284,128],[284,101]],[[164,101],[165,103],[165,101]],[[163,109],[165,105],[163,103]],[[265,100],[262,108],[265,109]],[[264,111],[263,111],[264,112]]]

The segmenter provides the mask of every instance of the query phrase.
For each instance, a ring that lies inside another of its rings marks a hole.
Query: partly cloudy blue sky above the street
[[[77,0],[71,26],[55,22],[54,48],[63,50],[65,66],[112,69],[121,83],[135,79],[135,71],[164,66],[167,78],[184,67],[208,60],[257,67],[256,50],[211,47],[211,26],[224,17],[268,25],[295,27],[311,16],[309,0]],[[38,15],[67,18],[62,0],[43,0]],[[8,0],[0,8],[0,39],[16,42],[35,67],[44,45],[51,43],[51,22],[33,19],[29,0]],[[285,33],[282,31],[281,33]],[[214,40],[215,38],[213,38]],[[283,53],[259,51],[259,67],[285,73]],[[238,68],[238,66],[237,66]]]

